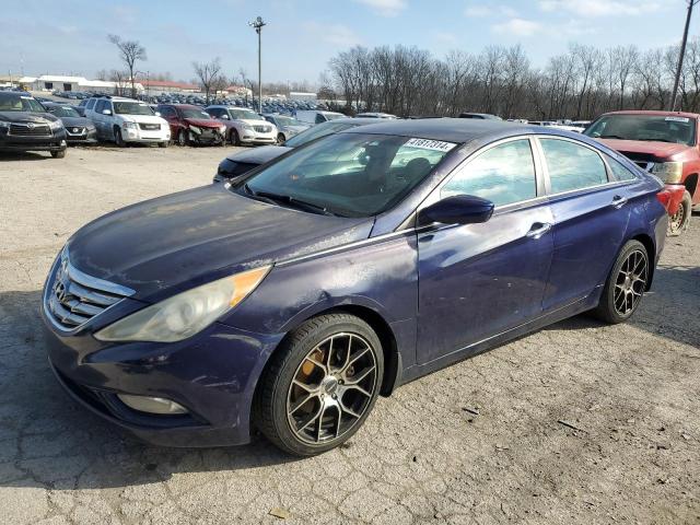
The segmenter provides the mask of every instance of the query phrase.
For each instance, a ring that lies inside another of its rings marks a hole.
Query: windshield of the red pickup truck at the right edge
[[[693,145],[696,119],[676,115],[608,115],[584,135],[594,139],[643,140]]]

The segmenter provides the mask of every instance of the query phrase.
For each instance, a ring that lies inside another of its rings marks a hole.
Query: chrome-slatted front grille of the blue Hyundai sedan
[[[62,329],[72,330],[84,325],[133,290],[88,276],[74,268],[63,248],[52,268],[44,291],[44,307]]]

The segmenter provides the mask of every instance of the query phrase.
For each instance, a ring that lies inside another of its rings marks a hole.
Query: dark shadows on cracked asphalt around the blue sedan
[[[39,291],[0,293],[0,487],[54,490],[149,485],[180,472],[246,470],[295,462],[262,438],[222,448],[143,444],[79,406],[50,371],[39,329]],[[630,324],[686,345],[700,343],[700,268],[658,267],[653,291]],[[603,326],[579,315],[545,329]]]

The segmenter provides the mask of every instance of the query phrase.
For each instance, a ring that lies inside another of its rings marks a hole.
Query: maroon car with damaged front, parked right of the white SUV
[[[189,104],[161,104],[156,108],[171,126],[171,137],[178,145],[226,144],[226,126],[211,118],[201,107]]]

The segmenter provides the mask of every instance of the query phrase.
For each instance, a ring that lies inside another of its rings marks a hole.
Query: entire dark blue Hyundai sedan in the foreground
[[[147,441],[257,429],[318,454],[398,385],[581,312],[627,320],[664,246],[662,190],[578,133],[348,129],[73,234],[44,289],[50,363]]]

